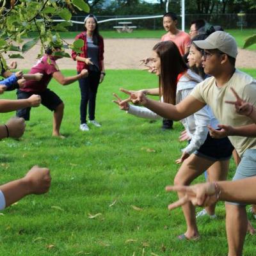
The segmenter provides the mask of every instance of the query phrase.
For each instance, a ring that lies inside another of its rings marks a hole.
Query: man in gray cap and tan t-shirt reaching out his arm
[[[235,97],[231,90],[234,88],[238,95],[246,102],[256,106],[256,81],[248,74],[235,68],[237,56],[237,44],[235,39],[223,31],[212,33],[205,40],[193,42],[197,47],[202,49],[202,66],[204,72],[211,75],[202,83],[198,84],[191,94],[177,105],[157,102],[156,100],[147,99],[142,92],[129,93],[134,103],[143,104],[158,115],[164,116],[171,120],[181,120],[186,116],[192,115],[205,104],[208,104],[214,116],[223,125],[232,125],[241,127],[237,129],[237,134],[228,134],[220,126],[219,136],[229,135],[231,143],[236,148],[241,163],[237,166],[234,180],[256,175],[256,125],[249,116],[243,116],[236,113],[234,106],[227,104],[225,101],[234,101]],[[122,104],[122,102],[121,102]],[[244,126],[245,125],[245,126]],[[209,127],[210,130],[211,127]],[[250,138],[244,136],[244,131],[250,131]],[[236,136],[230,136],[236,135]],[[196,172],[196,166],[191,164],[191,172]],[[188,181],[186,185],[190,182]],[[176,185],[184,185],[175,180]],[[243,193],[243,191],[241,191]],[[179,193],[182,198],[184,193]],[[191,203],[182,207],[186,220],[195,222],[195,208]],[[228,238],[228,256],[241,256],[243,252],[244,237],[246,236],[247,216],[244,204],[226,204],[226,229]],[[189,215],[190,214],[190,215]],[[187,239],[198,237],[198,230],[191,230],[188,225],[184,233]]]

